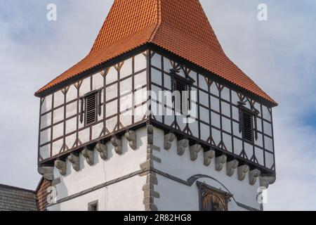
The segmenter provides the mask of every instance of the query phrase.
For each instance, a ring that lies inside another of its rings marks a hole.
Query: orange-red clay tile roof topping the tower
[[[88,56],[36,95],[147,43],[277,105],[225,55],[199,0],[115,0]]]

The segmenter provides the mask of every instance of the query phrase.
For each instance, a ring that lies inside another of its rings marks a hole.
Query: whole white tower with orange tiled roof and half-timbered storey
[[[261,210],[275,182],[277,103],[198,0],[115,0],[88,56],[35,95],[48,210]]]

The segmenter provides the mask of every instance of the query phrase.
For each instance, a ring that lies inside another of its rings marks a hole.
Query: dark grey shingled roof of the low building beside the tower
[[[37,211],[37,194],[0,184],[0,211]]]

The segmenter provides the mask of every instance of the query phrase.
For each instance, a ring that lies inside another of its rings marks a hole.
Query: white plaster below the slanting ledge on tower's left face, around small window
[[[98,200],[99,211],[143,211],[142,191],[146,176],[133,176],[78,198],[48,207],[49,211],[87,211],[88,203]]]

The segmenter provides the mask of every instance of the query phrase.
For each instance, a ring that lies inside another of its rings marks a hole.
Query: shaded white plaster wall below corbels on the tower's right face
[[[222,171],[217,172],[215,170],[215,159],[212,160],[209,167],[204,166],[202,151],[199,152],[198,158],[194,162],[190,160],[188,147],[185,153],[180,156],[177,154],[176,142],[176,140],[173,141],[170,150],[164,150],[164,131],[154,128],[154,145],[159,146],[161,151],[154,151],[153,154],[162,159],[162,163],[154,162],[154,168],[185,181],[196,174],[211,176],[221,184],[209,178],[202,178],[198,181],[205,182],[209,186],[226,192],[230,191],[237,202],[258,210],[260,209],[260,204],[256,200],[259,187],[258,181],[254,186],[249,185],[248,174],[246,174],[244,181],[239,181],[237,178],[237,169],[233,176],[227,176],[226,165],[224,165]],[[155,198],[154,204],[157,205],[159,210],[199,210],[199,193],[196,184],[189,187],[171,179],[166,179],[163,176],[157,175],[157,177],[158,185],[154,186],[154,189],[160,193],[160,198]],[[234,200],[228,206],[229,210],[244,210]]]

